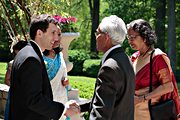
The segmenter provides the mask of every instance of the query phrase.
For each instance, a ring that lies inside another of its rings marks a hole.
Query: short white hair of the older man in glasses
[[[109,34],[113,45],[122,44],[127,34],[126,24],[116,15],[103,18],[99,28]]]

